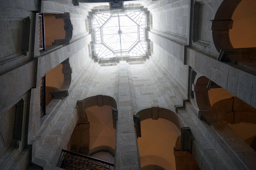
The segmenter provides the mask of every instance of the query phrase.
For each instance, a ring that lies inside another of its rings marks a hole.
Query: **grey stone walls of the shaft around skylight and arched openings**
[[[89,54],[87,45],[92,39],[86,29],[85,18],[92,5],[80,3],[74,7],[71,0],[54,0],[42,1],[39,9],[39,1],[1,1],[0,169],[12,166],[13,169],[24,170],[30,156],[32,163],[44,169],[59,169],[56,165],[60,151],[67,148],[79,119],[77,100],[97,94],[113,97],[118,106],[115,169],[140,169],[133,114],[152,105],[172,112],[154,112],[154,119],[165,118],[179,128],[190,127],[194,138],[191,152],[201,169],[255,169],[252,149],[227,124],[210,126],[199,120],[198,96],[191,99],[189,95],[191,83],[196,83],[190,82],[190,72],[194,70],[197,78],[199,75],[206,76],[256,107],[255,74],[217,60],[219,52],[215,48],[211,30],[216,24],[212,26],[210,20],[214,20],[222,1],[197,2],[198,18],[191,19],[190,8],[193,8],[195,1],[140,2],[152,13],[153,23],[148,32],[154,46],[152,55],[143,63],[120,61],[111,66],[94,63]],[[73,25],[70,44],[39,52],[38,25],[34,23],[38,13],[35,14],[35,11],[70,13]],[[28,31],[24,27],[28,17],[29,48],[24,51],[22,43],[28,37],[24,40],[21,35]],[[197,31],[190,30],[195,25]],[[67,58],[72,67],[67,89],[69,96],[53,99],[46,108],[46,115],[40,118],[39,79]],[[10,147],[13,107],[20,99],[24,100],[26,114],[19,149],[14,149]],[[244,115],[248,117],[250,112],[247,110]],[[26,127],[28,134],[25,133]],[[27,144],[31,146],[31,154]]]

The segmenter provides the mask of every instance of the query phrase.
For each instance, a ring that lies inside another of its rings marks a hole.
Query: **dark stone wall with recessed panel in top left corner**
[[[0,73],[27,63],[32,58],[35,16],[39,2],[1,2]]]

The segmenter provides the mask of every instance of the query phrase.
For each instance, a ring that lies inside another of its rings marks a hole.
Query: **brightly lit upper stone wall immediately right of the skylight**
[[[187,27],[189,23],[188,1],[145,1],[143,5],[152,14],[152,32],[181,43],[187,42]]]

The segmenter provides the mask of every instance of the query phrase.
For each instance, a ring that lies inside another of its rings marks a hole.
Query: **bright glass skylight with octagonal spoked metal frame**
[[[92,20],[95,31],[95,54],[98,58],[145,55],[146,18],[143,12],[126,11],[123,14],[98,13]]]

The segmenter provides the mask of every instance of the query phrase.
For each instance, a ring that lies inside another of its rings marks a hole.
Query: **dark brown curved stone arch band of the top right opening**
[[[234,10],[241,1],[223,0],[218,6],[214,20],[212,20],[212,38],[218,52],[221,49],[233,48],[229,38],[229,29],[233,26],[231,18]]]

